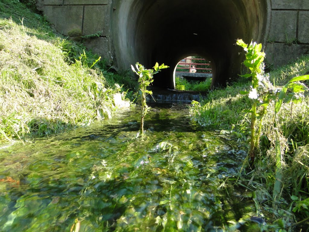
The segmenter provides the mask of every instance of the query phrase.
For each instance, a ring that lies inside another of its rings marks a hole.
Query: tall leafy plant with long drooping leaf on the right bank
[[[250,141],[250,157],[252,163],[254,162],[254,157],[256,150],[259,146],[261,127],[262,127],[262,118],[267,110],[267,106],[272,100],[275,100],[274,108],[274,123],[273,127],[275,128],[275,154],[276,154],[276,175],[275,183],[273,188],[273,208],[277,208],[276,201],[278,200],[281,183],[282,183],[282,162],[283,162],[283,146],[281,145],[281,131],[277,125],[279,125],[278,113],[280,111],[282,102],[287,101],[301,101],[302,98],[298,95],[308,88],[299,83],[299,81],[309,79],[309,75],[297,76],[290,79],[281,89],[277,96],[278,91],[274,91],[274,88],[270,89],[271,84],[269,83],[268,77],[263,76],[264,71],[262,69],[263,60],[265,53],[261,52],[262,45],[256,44],[255,42],[250,45],[245,44],[242,40],[237,40],[237,45],[244,48],[246,53],[246,60],[244,64],[251,71],[250,74],[243,75],[244,77],[252,77],[252,90],[248,92],[243,92],[243,94],[248,94],[248,97],[253,100],[252,110],[248,111],[251,114],[251,141]],[[265,90],[265,85],[268,88],[268,91]],[[288,88],[291,89],[291,93],[286,95]],[[261,107],[261,110],[257,112],[257,106]],[[256,133],[256,119],[259,118],[260,125]]]

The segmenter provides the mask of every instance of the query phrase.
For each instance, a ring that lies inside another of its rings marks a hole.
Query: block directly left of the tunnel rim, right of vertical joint
[[[108,27],[106,19],[108,19],[108,7],[104,5],[85,6],[83,35],[95,34],[103,32],[104,36],[108,36]]]

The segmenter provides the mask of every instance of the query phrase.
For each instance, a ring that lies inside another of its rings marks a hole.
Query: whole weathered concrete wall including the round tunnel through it
[[[170,66],[154,81],[169,88],[189,55],[211,61],[213,85],[236,78],[244,59],[238,38],[262,42],[273,67],[309,51],[309,0],[37,0],[37,7],[64,35],[100,32],[86,46],[119,70],[137,61]]]

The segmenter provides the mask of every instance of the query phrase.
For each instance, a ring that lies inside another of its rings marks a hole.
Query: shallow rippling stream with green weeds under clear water
[[[247,145],[191,121],[187,105],[139,108],[0,149],[0,231],[247,231],[234,185]],[[229,178],[229,179],[228,179]]]

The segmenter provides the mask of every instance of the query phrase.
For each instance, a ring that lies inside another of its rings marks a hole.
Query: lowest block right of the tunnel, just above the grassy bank
[[[308,54],[309,45],[267,43],[265,48],[265,63],[269,63],[274,68],[293,62]]]

